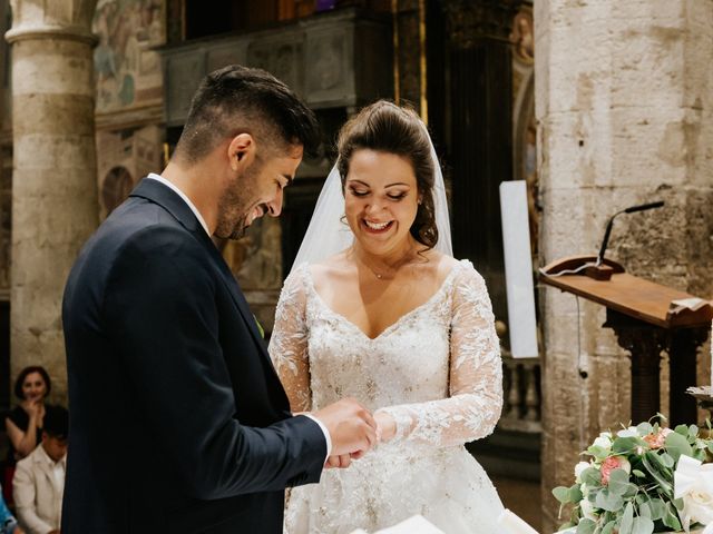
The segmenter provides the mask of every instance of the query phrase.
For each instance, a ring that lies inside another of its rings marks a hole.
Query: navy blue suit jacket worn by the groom
[[[71,269],[62,307],[62,533],[279,533],[324,436],[292,417],[241,289],[191,208],[143,180]]]

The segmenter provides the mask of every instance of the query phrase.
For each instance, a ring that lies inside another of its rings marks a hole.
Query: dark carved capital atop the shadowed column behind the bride
[[[508,42],[522,0],[441,0],[451,43],[472,48],[481,40]]]

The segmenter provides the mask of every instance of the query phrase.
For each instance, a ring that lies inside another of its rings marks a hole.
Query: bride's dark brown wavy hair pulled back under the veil
[[[436,210],[433,208],[433,159],[431,142],[421,119],[410,108],[388,100],[379,100],[362,109],[341,129],[336,141],[336,168],[342,189],[354,151],[371,149],[395,154],[411,162],[421,204],[411,225],[411,235],[429,249],[438,243]]]

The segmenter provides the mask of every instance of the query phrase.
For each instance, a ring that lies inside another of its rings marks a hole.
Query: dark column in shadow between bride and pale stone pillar
[[[456,257],[485,277],[506,317],[499,186],[512,179],[509,34],[520,0],[442,0],[450,49],[452,230]]]

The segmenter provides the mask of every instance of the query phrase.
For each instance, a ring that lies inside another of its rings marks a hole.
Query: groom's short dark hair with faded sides
[[[316,117],[287,86],[264,70],[231,65],[201,82],[175,155],[196,164],[242,132],[272,148],[302,145],[306,156],[321,141]]]

